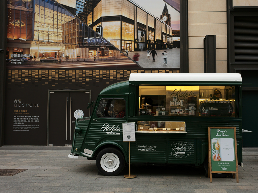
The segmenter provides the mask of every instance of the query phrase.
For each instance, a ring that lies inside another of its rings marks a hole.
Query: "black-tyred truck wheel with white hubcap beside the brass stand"
[[[96,166],[104,176],[116,176],[124,169],[124,155],[115,148],[105,148],[96,158]]]

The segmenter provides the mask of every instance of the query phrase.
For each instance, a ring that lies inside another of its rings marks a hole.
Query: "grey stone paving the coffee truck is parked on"
[[[28,169],[0,177],[0,193],[194,192],[258,193],[258,148],[243,148],[243,167],[236,179],[205,177],[203,167],[132,166],[118,176],[102,176],[95,161],[68,158],[71,146],[3,146],[0,169]]]

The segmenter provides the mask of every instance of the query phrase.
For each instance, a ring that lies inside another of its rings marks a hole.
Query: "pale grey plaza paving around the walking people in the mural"
[[[166,49],[168,57],[167,57],[167,65],[163,65],[163,57],[162,52],[165,50],[156,50],[157,55],[155,55],[155,62],[152,62],[152,55],[150,55],[150,59],[148,60],[146,51],[131,51],[128,53],[128,56],[133,59],[133,55],[135,53],[139,53],[139,65],[143,68],[180,68],[180,49]]]

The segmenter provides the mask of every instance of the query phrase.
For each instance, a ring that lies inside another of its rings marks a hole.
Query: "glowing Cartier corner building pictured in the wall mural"
[[[91,26],[102,26],[103,37],[122,51],[172,48],[170,26],[130,0],[98,1]]]

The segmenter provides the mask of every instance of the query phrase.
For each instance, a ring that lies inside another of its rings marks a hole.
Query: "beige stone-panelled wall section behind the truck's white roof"
[[[204,72],[203,39],[216,35],[217,73],[227,73],[227,16],[224,0],[189,0],[189,73]]]

